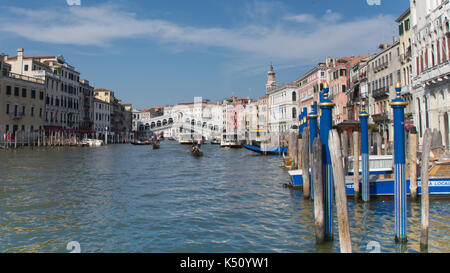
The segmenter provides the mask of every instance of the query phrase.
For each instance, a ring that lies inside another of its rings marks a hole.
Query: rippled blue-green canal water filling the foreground
[[[0,252],[339,252],[316,246],[312,203],[283,185],[278,157],[164,141],[151,146],[0,150]],[[450,252],[450,199],[431,199],[430,252]],[[419,252],[420,203],[408,244],[394,243],[393,199],[349,199],[354,252]],[[369,247],[368,247],[369,246]]]

